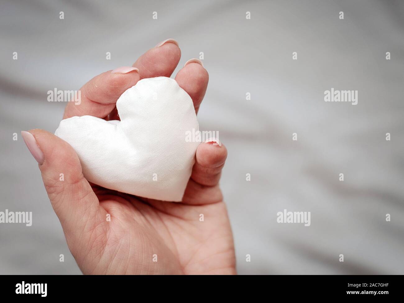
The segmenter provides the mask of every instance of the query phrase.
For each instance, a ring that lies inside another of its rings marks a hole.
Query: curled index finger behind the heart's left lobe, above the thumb
[[[139,79],[138,70],[128,66],[95,76],[80,89],[79,102],[67,103],[63,119],[85,115],[106,117],[115,108],[120,95]]]

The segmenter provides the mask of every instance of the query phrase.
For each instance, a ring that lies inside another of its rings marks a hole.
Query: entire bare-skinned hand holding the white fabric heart
[[[118,97],[142,78],[170,77],[181,51],[172,42],[144,53],[139,72],[104,72],[82,88],[80,105],[68,102],[63,118],[92,115],[119,119]],[[192,98],[196,112],[208,85],[198,63],[175,80]],[[219,188],[227,157],[222,144],[200,144],[183,201],[170,203],[119,193],[90,184],[73,148],[41,129],[29,131],[44,154],[39,165],[45,189],[67,245],[84,274],[235,274],[231,227]],[[173,142],[175,144],[175,142]],[[64,174],[64,181],[59,174]],[[111,221],[107,221],[110,214]],[[200,221],[200,214],[204,221]],[[157,262],[155,255],[157,255]]]

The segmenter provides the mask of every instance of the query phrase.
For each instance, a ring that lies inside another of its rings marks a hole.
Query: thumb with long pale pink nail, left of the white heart
[[[95,227],[105,226],[100,224],[105,223],[103,209],[83,177],[80,161],[72,146],[41,129],[22,131],[21,134],[39,163],[46,192],[66,238],[90,235]],[[88,239],[82,240],[88,242]]]

